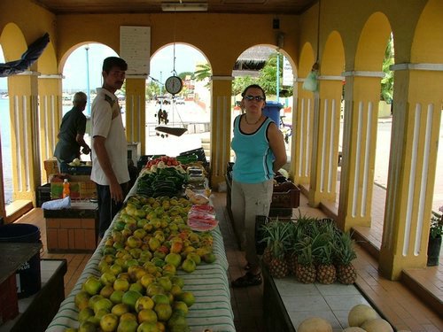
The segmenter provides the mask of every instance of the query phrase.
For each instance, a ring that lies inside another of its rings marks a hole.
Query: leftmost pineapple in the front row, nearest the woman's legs
[[[290,222],[274,221],[266,226],[267,248],[263,253],[265,264],[268,265],[269,273],[275,278],[284,278],[289,268],[284,259],[284,253],[290,238]]]

